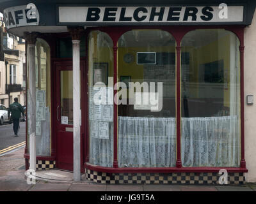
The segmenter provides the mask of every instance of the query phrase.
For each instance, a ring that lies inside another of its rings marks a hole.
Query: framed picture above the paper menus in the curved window
[[[93,85],[102,82],[108,85],[108,63],[95,62],[93,63]]]

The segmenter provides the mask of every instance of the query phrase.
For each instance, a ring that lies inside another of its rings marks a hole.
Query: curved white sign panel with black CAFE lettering
[[[39,13],[35,4],[15,6],[4,10],[6,28],[39,24]]]

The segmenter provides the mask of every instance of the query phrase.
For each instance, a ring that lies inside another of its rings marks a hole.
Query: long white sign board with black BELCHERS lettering
[[[243,22],[244,6],[59,6],[58,24]]]

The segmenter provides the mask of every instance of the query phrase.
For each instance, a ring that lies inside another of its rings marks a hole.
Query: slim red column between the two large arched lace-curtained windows
[[[182,163],[181,163],[181,145],[180,145],[180,140],[181,140],[181,131],[180,131],[180,41],[177,41],[177,70],[176,70],[176,115],[177,115],[177,161],[176,161],[176,167],[181,168]]]

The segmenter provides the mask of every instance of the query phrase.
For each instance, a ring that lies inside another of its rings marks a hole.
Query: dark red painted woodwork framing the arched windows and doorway
[[[81,138],[81,143],[83,143],[83,154],[81,155],[81,162],[84,163],[84,168],[88,168],[90,170],[95,171],[103,171],[108,173],[125,173],[125,172],[132,172],[132,173],[170,173],[170,172],[217,172],[221,168],[209,168],[209,167],[198,167],[198,168],[186,168],[182,167],[180,155],[181,155],[181,147],[180,147],[180,43],[182,41],[182,38],[185,34],[187,34],[189,31],[193,31],[195,29],[226,29],[228,31],[232,31],[236,34],[236,36],[240,40],[240,62],[241,62],[241,164],[240,168],[225,168],[228,170],[228,172],[247,172],[246,170],[246,162],[244,159],[244,25],[195,25],[195,26],[188,26],[188,25],[173,25],[173,26],[157,26],[157,25],[146,25],[146,26],[109,26],[109,27],[91,27],[86,29],[86,36],[90,33],[90,31],[102,31],[107,33],[110,38],[113,40],[113,51],[114,51],[114,84],[117,82],[117,42],[122,36],[122,34],[126,33],[127,31],[131,31],[132,29],[161,29],[163,31],[167,31],[176,40],[176,49],[177,49],[177,100],[176,100],[176,113],[177,113],[177,161],[176,161],[176,167],[175,168],[118,168],[118,113],[117,113],[117,105],[114,103],[114,160],[113,160],[113,168],[104,168],[100,166],[92,166],[88,164],[89,161],[89,152],[90,152],[90,140],[89,140],[89,127],[88,127],[88,85],[87,85],[87,79],[88,79],[88,64],[86,61],[86,58],[84,58],[84,64],[86,64],[83,67],[84,72],[84,80],[81,81],[82,85],[82,101],[81,101],[81,108],[83,108],[83,116],[82,116],[82,129],[84,129],[84,132],[81,130],[81,133],[86,133]],[[50,45],[51,47],[51,57],[52,57],[52,99],[56,97],[56,92],[54,92],[54,83],[56,80],[56,75],[54,75],[54,63],[56,61],[63,62],[63,61],[70,61],[72,62],[72,59],[56,59],[56,45],[55,45],[55,39],[56,38],[66,38],[68,37],[68,33],[61,33],[61,34],[45,34],[42,36]],[[86,51],[87,51],[87,45]],[[87,53],[87,52],[86,52]],[[82,59],[82,58],[81,58]],[[72,64],[72,63],[71,63]],[[117,91],[114,90],[114,96]],[[56,104],[52,103],[52,158],[56,157],[56,160],[58,161],[58,155],[55,154],[55,152],[58,152],[58,145],[57,145],[57,132],[60,131],[58,128],[56,128]],[[27,147],[28,148],[28,147]],[[26,150],[25,150],[25,153]],[[26,158],[29,158],[28,154],[25,156]],[[83,159],[82,159],[83,157]],[[38,157],[36,157],[37,159]],[[49,157],[45,157],[49,158]],[[46,159],[45,159],[46,160]]]

